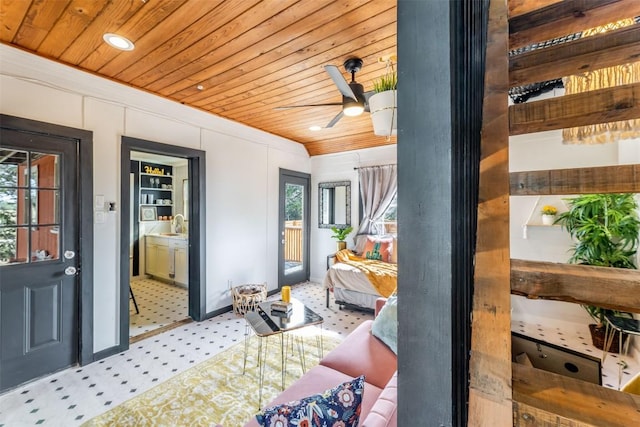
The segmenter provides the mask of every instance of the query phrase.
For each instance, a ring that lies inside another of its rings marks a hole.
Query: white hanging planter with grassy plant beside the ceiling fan
[[[373,82],[374,94],[369,97],[369,111],[373,122],[373,133],[391,136],[398,133],[398,74],[391,60],[387,72]]]

